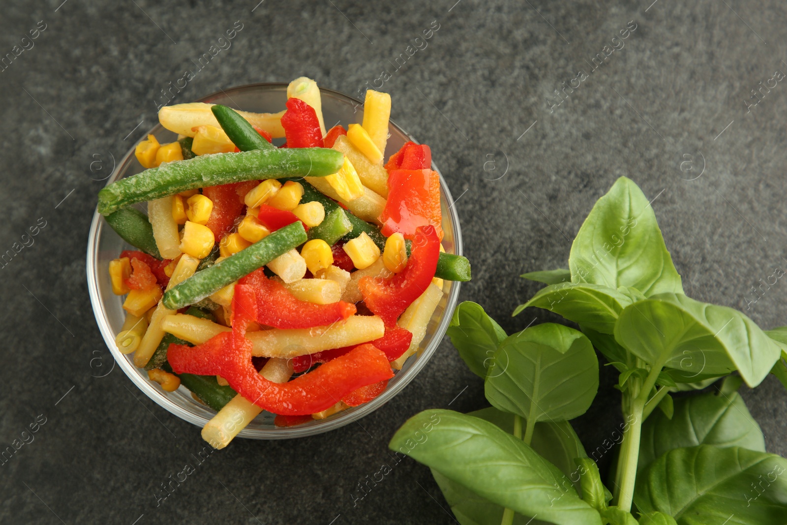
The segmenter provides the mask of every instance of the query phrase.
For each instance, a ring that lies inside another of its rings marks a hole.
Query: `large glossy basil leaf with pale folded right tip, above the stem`
[[[648,364],[715,375],[737,369],[752,388],[779,355],[776,343],[743,313],[682,294],[627,306],[615,324],[615,340]]]

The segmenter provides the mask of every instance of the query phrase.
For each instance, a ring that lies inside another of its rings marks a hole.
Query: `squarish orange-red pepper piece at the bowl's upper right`
[[[440,176],[430,169],[395,169],[388,175],[388,200],[379,217],[382,235],[399,231],[405,237],[431,224],[443,237]]]

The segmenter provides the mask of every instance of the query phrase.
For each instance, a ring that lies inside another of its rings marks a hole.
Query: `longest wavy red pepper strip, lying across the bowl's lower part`
[[[272,383],[251,364],[251,342],[223,332],[193,348],[170,345],[169,364],[176,374],[221,375],[247,400],[283,416],[304,416],[331,408],[361,386],[393,377],[379,349],[361,345],[289,383]]]

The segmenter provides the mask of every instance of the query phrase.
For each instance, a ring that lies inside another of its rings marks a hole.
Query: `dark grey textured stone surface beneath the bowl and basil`
[[[462,298],[509,332],[554,320],[509,316],[538,289],[518,275],[565,265],[593,201],[622,175],[655,199],[688,294],[744,309],[763,327],[787,324],[787,284],[746,302],[787,264],[787,87],[750,98],[787,72],[783,2],[258,1],[0,6],[0,55],[46,24],[0,71],[0,250],[46,221],[0,274],[0,446],[46,418],[0,466],[0,522],[453,523],[428,469],[412,460],[355,505],[352,497],[390,461],[386,443],[408,416],[455,397],[451,408],[463,412],[486,405],[447,340],[402,394],[358,424],[298,441],[237,440],[158,507],[153,491],[202,448],[198,429],[119,369],[94,377],[111,368],[84,275],[102,186],[94,179],[152,125],[160,90],[236,20],[243,28],[231,48],[174,102],[301,75],[357,94],[387,68],[393,120],[430,144],[458,198],[475,275]],[[434,20],[428,46],[393,72]],[[591,58],[628,24],[636,29],[623,48],[591,72]],[[556,105],[553,91],[580,70],[588,78]],[[589,449],[619,418],[612,380],[604,368],[604,394],[575,421]],[[768,449],[787,453],[781,386],[769,378],[745,398]]]

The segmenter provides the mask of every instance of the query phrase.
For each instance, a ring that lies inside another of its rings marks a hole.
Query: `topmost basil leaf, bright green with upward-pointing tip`
[[[683,293],[650,202],[626,177],[593,205],[571,244],[568,268],[572,283],[634,287],[647,297]]]

